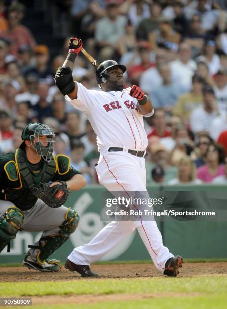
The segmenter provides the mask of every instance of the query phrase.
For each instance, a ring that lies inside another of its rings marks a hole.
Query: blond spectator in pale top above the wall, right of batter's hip
[[[150,144],[147,149],[149,153],[149,160],[145,162],[147,171],[147,184],[152,183],[152,173],[151,171],[156,166],[161,166],[165,173],[165,181],[174,178],[177,175],[177,169],[174,166],[169,165],[168,157],[169,152],[166,147],[161,144]]]

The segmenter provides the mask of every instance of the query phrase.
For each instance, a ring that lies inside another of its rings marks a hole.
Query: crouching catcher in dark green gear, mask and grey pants
[[[20,147],[0,157],[0,252],[6,246],[9,252],[10,241],[19,230],[43,231],[40,240],[29,246],[23,265],[48,272],[60,270],[59,261],[48,257],[63,245],[79,222],[77,212],[61,202],[68,190],[79,190],[86,184],[70,166],[69,157],[53,156],[54,136],[50,126],[30,123],[22,132]],[[40,183],[47,188],[47,196],[39,192]],[[55,192],[49,199],[48,191]]]

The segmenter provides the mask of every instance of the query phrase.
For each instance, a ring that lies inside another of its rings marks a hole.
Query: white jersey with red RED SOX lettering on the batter
[[[77,98],[66,99],[78,110],[85,112],[97,134],[98,151],[108,147],[128,147],[133,150],[147,148],[147,135],[143,116],[136,108],[137,99],[129,95],[130,89],[122,91],[88,90],[77,83]]]

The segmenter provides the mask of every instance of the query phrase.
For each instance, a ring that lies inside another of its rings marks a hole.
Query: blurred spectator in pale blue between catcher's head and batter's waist
[[[91,183],[91,170],[84,161],[84,144],[78,142],[73,144],[70,151],[71,166],[79,171],[86,179],[87,184]]]

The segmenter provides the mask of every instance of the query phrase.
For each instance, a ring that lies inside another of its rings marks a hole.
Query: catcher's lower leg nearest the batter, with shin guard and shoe
[[[24,258],[23,265],[40,271],[58,272],[61,269],[60,261],[55,259],[48,260],[47,258],[67,241],[70,234],[76,230],[78,223],[79,215],[76,211],[69,208],[65,215],[65,221],[59,227],[58,234],[41,237],[39,246],[28,246],[38,250],[35,251],[35,259],[34,255],[30,255],[28,252]]]

